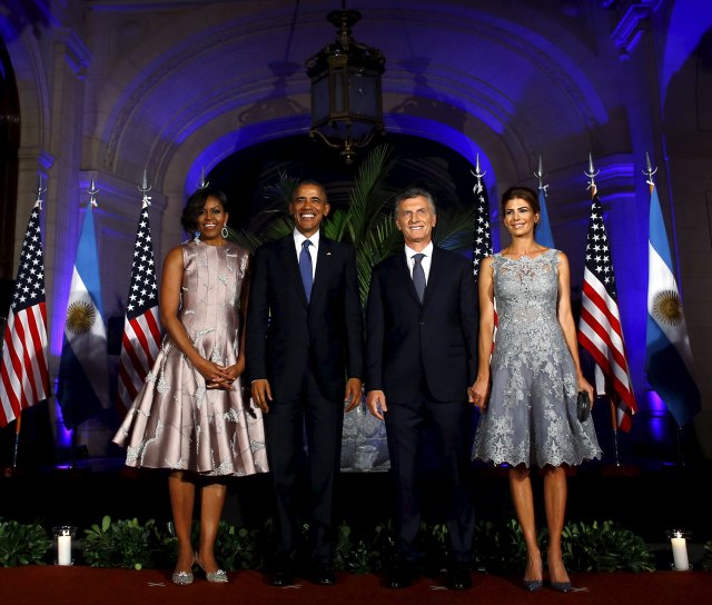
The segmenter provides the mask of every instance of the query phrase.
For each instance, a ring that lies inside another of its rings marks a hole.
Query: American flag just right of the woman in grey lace
[[[623,341],[609,237],[595,185],[589,220],[578,344],[596,364],[597,394],[603,395],[606,386],[613,387],[617,425],[614,428],[630,430],[637,405]]]

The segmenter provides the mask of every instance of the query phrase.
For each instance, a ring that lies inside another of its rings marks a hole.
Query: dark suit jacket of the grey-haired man
[[[466,400],[477,374],[477,292],[472,264],[435,247],[423,304],[405,252],[376,265],[366,307],[366,389],[386,403]]]

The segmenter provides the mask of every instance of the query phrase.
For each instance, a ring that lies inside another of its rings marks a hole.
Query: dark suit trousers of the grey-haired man
[[[421,525],[418,457],[422,455],[423,429],[432,423],[445,480],[446,526],[449,557],[469,562],[475,515],[471,490],[472,406],[465,401],[435,401],[427,394],[419,400],[387,401],[385,415],[390,473],[394,482],[396,555],[414,561],[414,543]]]

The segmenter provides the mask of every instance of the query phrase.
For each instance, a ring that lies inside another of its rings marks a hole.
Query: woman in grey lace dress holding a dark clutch
[[[578,361],[568,260],[534,240],[536,194],[526,187],[505,191],[502,217],[512,241],[486,258],[479,271],[479,367],[469,397],[481,416],[473,457],[511,467],[510,490],[527,548],[528,591],[543,585],[530,478],[532,466],[542,469],[551,586],[567,592],[571,581],[561,551],[565,466],[601,455],[591,417],[583,423],[576,417],[578,391],[593,401],[593,388]]]

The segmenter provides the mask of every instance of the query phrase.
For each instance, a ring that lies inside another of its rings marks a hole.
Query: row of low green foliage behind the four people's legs
[[[303,527],[305,538],[308,526]],[[199,524],[194,523],[191,538],[198,543]],[[261,568],[273,551],[275,528],[267,519],[260,529],[235,527],[220,522],[215,555],[229,572]],[[538,543],[546,551],[547,533],[540,530]],[[171,567],[177,555],[172,524],[159,529],[154,519],[141,524],[136,518],[111,522],[85,529],[77,540],[85,563],[92,567]],[[0,566],[42,564],[52,545],[47,530],[38,523],[22,525],[0,520]],[[424,554],[426,572],[447,565],[447,528],[443,524],[421,526],[417,549]],[[642,538],[612,520],[570,523],[562,533],[564,564],[572,572],[652,572],[654,557]],[[395,552],[390,525],[355,530],[346,523],[338,527],[335,565],[353,574],[380,573],[388,568]],[[478,522],[473,542],[475,567],[490,573],[521,573],[526,564],[524,536],[515,519],[502,523]],[[704,545],[701,567],[712,571],[712,542]]]

